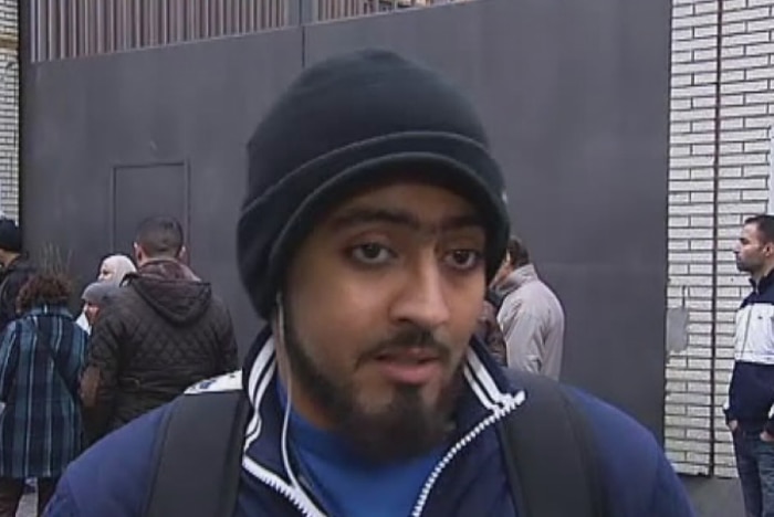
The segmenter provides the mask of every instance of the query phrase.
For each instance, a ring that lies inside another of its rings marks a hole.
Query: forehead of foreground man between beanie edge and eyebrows
[[[480,215],[468,200],[442,187],[419,182],[396,182],[362,191],[325,218],[325,225],[333,229],[365,223],[438,231],[481,226]]]

